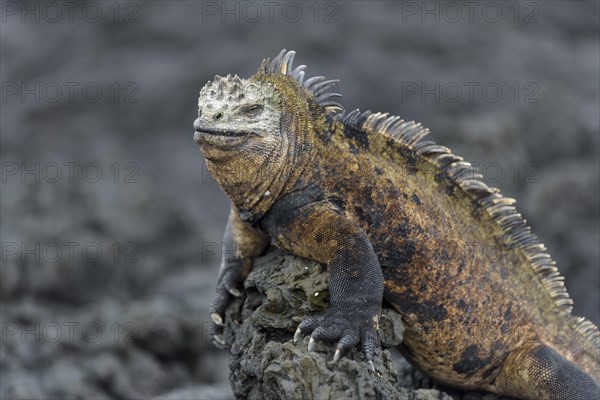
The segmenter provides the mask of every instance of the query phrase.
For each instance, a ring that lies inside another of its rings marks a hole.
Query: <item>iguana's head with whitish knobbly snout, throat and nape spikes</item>
[[[266,212],[308,156],[316,126],[341,110],[331,90],[337,81],[304,81],[306,66],[292,68],[294,54],[282,50],[254,76],[216,76],[200,91],[194,140],[242,216]]]

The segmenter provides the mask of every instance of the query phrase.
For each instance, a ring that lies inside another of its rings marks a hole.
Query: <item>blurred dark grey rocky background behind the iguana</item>
[[[600,322],[599,3],[1,3],[0,397],[232,396],[200,87],[282,48],[480,166]]]

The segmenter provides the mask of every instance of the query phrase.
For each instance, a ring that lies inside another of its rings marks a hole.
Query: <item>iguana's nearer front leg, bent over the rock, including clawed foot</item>
[[[276,207],[264,226],[278,247],[327,265],[331,308],[306,318],[294,339],[311,334],[309,350],[316,340],[337,341],[334,361],[361,342],[373,369],[383,273],[366,233],[326,201]]]

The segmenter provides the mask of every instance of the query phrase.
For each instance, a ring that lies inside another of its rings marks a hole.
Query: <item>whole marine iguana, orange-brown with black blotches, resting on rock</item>
[[[359,342],[373,368],[385,299],[403,318],[401,352],[459,389],[521,399],[600,395],[600,333],[571,314],[555,262],[516,211],[428,130],[346,113],[337,80],[304,79],[293,51],[248,79],[200,91],[194,140],[232,200],[215,340],[230,296],[269,243],[327,266],[330,309],[294,340]]]

